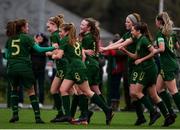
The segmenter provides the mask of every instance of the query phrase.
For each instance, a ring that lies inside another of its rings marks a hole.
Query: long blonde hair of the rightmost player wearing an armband
[[[162,33],[165,36],[169,36],[172,33],[173,22],[170,19],[167,12],[162,12],[156,17],[157,21],[160,21]]]

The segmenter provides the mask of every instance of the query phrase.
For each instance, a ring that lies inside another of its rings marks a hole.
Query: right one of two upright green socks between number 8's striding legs
[[[88,98],[85,95],[79,95],[79,107],[81,110],[80,118],[86,118],[88,111]]]

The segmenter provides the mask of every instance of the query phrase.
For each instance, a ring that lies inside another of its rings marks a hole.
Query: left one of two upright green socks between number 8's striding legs
[[[71,117],[75,116],[78,104],[79,104],[79,95],[73,95],[72,104],[71,104]]]

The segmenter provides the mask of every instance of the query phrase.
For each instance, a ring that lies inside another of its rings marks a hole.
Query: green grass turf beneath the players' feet
[[[19,111],[20,120],[16,123],[9,123],[11,109],[0,109],[0,129],[164,129],[161,127],[164,122],[163,116],[152,126],[148,126],[149,114],[145,113],[147,123],[141,126],[134,126],[136,114],[134,112],[116,112],[110,126],[105,125],[103,112],[94,112],[89,125],[71,125],[69,123],[50,123],[56,115],[55,110],[41,110],[42,119],[45,124],[35,124],[34,114],[31,109],[21,109]],[[168,129],[180,128],[180,114],[176,122],[167,127]]]

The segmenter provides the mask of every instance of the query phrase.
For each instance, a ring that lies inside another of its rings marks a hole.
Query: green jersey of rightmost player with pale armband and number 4
[[[174,35],[166,37],[159,30],[156,35],[156,43],[159,45],[160,42],[164,42],[165,51],[160,53],[160,65],[163,71],[175,71],[178,68],[176,61],[176,55],[174,53],[174,44],[175,44]]]

